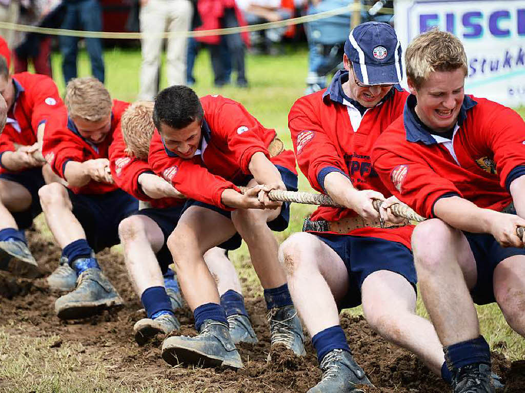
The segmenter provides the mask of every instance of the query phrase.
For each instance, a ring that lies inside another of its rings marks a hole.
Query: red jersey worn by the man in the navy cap
[[[372,189],[389,197],[392,194],[372,168],[370,153],[377,137],[402,113],[408,93],[395,87],[380,104],[365,110],[345,97],[342,83],[346,80],[348,71],[339,71],[327,90],[306,95],[293,104],[288,126],[299,168],[321,193],[325,193],[324,177],[335,171],[348,177],[358,190]],[[322,206],[310,219],[337,221],[356,215],[351,209]],[[412,229],[366,227],[349,235],[397,241],[410,248]]]

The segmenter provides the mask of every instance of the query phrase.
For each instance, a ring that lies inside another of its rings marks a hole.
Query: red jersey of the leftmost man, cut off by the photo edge
[[[64,103],[53,79],[22,72],[13,75],[13,84],[15,100],[7,113],[7,123],[0,135],[0,156],[4,152],[15,151],[15,143],[26,146],[35,144],[38,126],[48,122],[53,116],[64,115]],[[5,172],[9,171],[6,168],[0,171]]]

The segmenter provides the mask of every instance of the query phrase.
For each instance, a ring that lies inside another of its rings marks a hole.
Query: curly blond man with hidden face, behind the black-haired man
[[[156,334],[178,330],[174,310],[182,299],[173,276],[173,263],[167,239],[177,226],[186,199],[170,183],[155,175],[148,164],[151,137],[155,130],[153,102],[135,102],[122,115],[120,128],[110,154],[115,183],[129,194],[143,200],[145,206],[125,218],[119,225],[124,260],[140,296],[147,318],[135,323],[135,341],[143,344]],[[257,337],[248,319],[240,282],[224,249],[213,248],[204,259],[214,274],[220,301],[225,306],[230,334],[234,342],[256,343]],[[171,273],[171,274],[170,274]]]

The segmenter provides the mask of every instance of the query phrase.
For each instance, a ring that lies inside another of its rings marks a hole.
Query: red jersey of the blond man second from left
[[[113,100],[111,129],[106,139],[99,144],[85,140],[70,118],[51,122],[49,129],[46,127],[42,146],[44,157],[51,168],[60,177],[65,178],[64,169],[69,161],[84,162],[96,158],[109,158],[114,134],[117,130],[120,132],[120,128],[118,128],[120,118],[128,106],[128,102]],[[75,194],[104,194],[117,188],[116,184],[99,183],[95,180],[91,180],[83,187],[70,187]]]

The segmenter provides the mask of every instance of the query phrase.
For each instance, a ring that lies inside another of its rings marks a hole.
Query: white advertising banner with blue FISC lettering
[[[403,49],[433,27],[463,41],[466,93],[525,105],[525,0],[397,0],[394,16]]]

